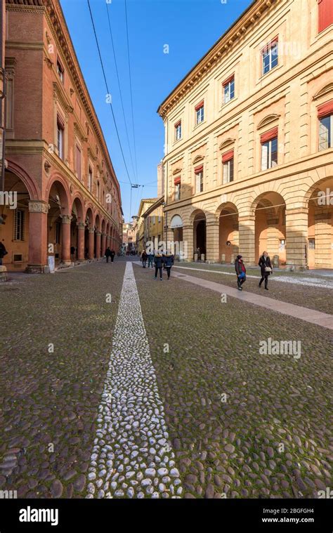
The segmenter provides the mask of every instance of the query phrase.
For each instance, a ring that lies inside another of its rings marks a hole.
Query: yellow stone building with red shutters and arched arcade
[[[188,260],[333,268],[332,39],[332,0],[256,0],[159,106]]]

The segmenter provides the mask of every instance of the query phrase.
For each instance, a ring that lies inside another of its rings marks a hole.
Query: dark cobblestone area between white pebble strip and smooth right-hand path
[[[332,487],[332,333],[134,272],[185,497],[306,498]],[[261,355],[269,337],[301,341],[301,357]]]

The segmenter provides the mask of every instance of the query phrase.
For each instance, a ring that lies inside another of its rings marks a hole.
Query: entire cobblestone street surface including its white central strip
[[[300,289],[288,284],[292,303]],[[332,487],[329,329],[124,258],[0,292],[1,490],[301,499]],[[268,338],[301,343],[299,357],[261,353]]]

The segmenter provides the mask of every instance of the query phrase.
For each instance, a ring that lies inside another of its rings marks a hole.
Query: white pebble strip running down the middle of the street
[[[128,262],[86,497],[180,498],[183,488],[174,458],[133,266]]]

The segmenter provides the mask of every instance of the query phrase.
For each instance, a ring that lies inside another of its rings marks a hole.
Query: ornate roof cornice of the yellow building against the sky
[[[159,105],[157,110],[162,119],[187,93],[192,91],[200,81],[214,68],[218,62],[223,60],[226,53],[233,48],[237,41],[252,29],[256,22],[261,18],[277,0],[254,0],[247,10],[236,20],[236,22],[227,30],[225,34],[210,48],[206,55],[188,72],[183,80],[174,88],[169,96]]]

